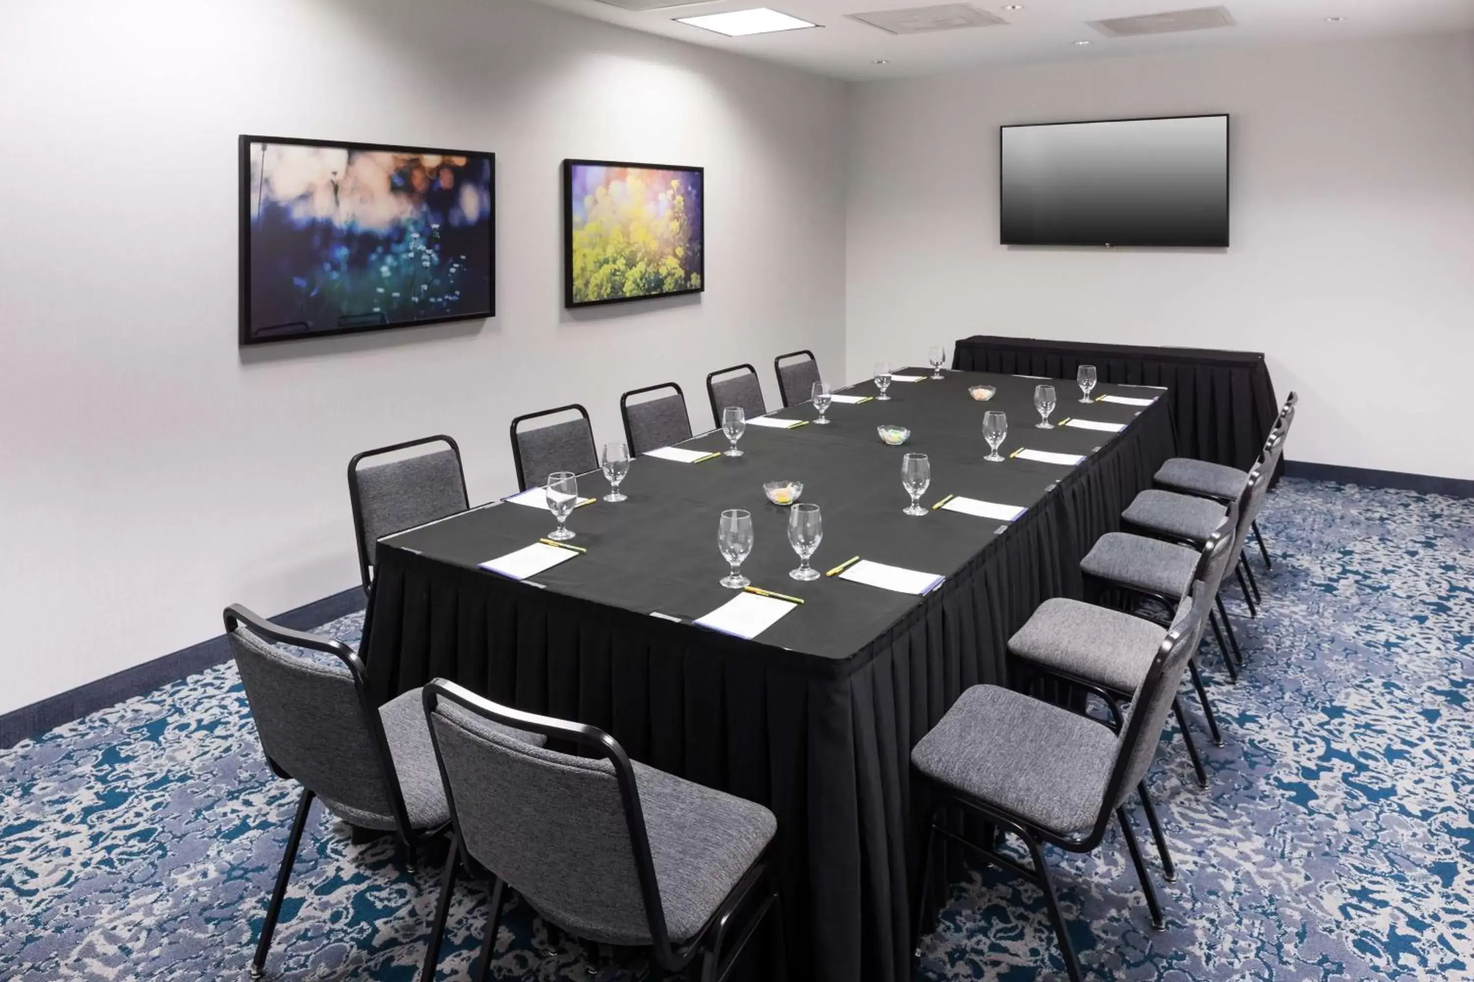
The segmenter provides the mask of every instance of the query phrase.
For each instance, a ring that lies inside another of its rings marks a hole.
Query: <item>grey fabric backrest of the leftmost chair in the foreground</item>
[[[271,767],[355,824],[408,835],[383,724],[352,649],[273,624],[239,605],[227,607],[224,618]]]

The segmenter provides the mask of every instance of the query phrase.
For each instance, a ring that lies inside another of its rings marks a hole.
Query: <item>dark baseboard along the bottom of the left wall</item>
[[[271,620],[293,630],[311,630],[327,621],[364,608],[364,592],[354,586],[342,593],[333,593],[296,610],[279,614]],[[162,685],[177,682],[196,671],[203,671],[230,660],[230,645],[220,635],[198,645],[190,645],[171,655],[144,661],[142,665],[124,668],[105,679],[88,682],[49,699],[22,705],[0,716],[0,749],[15,746],[24,739],[40,736],[63,723],[80,720],[88,713],[106,710],[124,699],[152,692]]]

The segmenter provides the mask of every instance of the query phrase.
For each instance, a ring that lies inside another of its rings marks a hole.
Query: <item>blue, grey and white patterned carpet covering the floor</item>
[[[1474,502],[1287,480],[1262,524],[1276,562],[1262,615],[1237,617],[1244,682],[1212,686],[1213,783],[1176,741],[1150,777],[1179,863],[1167,930],[1117,836],[1051,854],[1086,975],[1471,979]],[[0,978],[243,978],[295,799],[230,665],[0,751]],[[438,861],[410,872],[315,810],[271,975],[414,978]],[[458,897],[439,978],[466,978],[482,900]],[[593,978],[516,904],[494,975]],[[955,883],[918,978],[1041,976],[1063,963],[1038,892]]]

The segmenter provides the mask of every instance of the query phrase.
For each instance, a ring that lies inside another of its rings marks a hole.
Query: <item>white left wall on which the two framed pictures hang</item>
[[[357,582],[343,468],[811,347],[843,364],[846,90],[522,0],[4,3],[0,713]],[[236,347],[236,135],[483,149],[498,317]],[[566,156],[706,169],[700,299],[562,309]]]

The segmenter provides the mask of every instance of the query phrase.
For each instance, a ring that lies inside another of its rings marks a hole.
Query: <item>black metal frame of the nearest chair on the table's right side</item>
[[[1206,605],[1206,604],[1204,604]],[[1194,605],[1197,607],[1197,605]],[[1194,610],[1192,617],[1203,617],[1203,611]],[[1185,621],[1173,629],[1167,630],[1166,637],[1162,639],[1162,645],[1157,648],[1157,654],[1151,661],[1151,667],[1147,670],[1147,680],[1142,683],[1142,702],[1150,702],[1151,696],[1156,693],[1157,686],[1162,685],[1162,673],[1166,661],[1172,657],[1176,645],[1184,636],[1191,635],[1197,630],[1197,626]],[[1054,880],[1049,877],[1049,867],[1044,858],[1044,844],[1057,845],[1069,852],[1091,852],[1101,844],[1106,838],[1106,829],[1110,826],[1111,808],[1108,802],[1122,801],[1125,802],[1129,792],[1126,792],[1125,782],[1128,771],[1131,769],[1132,752],[1142,739],[1148,739],[1142,732],[1145,727],[1144,713],[1132,713],[1131,720],[1126,723],[1126,736],[1122,741],[1116,763],[1111,767],[1110,779],[1106,782],[1106,794],[1101,799],[1100,814],[1095,817],[1095,824],[1091,827],[1083,838],[1073,838],[1069,835],[1058,835],[1029,822],[1023,816],[1019,816],[999,805],[980,801],[971,795],[961,792],[955,788],[945,785],[937,785],[932,782],[932,788],[936,791],[936,801],[932,805],[932,813],[927,817],[927,841],[926,851],[921,858],[921,889],[918,892],[917,901],[917,920],[915,920],[915,941],[920,941],[923,928],[926,925],[927,911],[927,892],[932,885],[932,867],[936,866],[936,839],[943,836],[957,842],[963,848],[977,852],[985,860],[1005,869],[1023,879],[1029,880],[1044,892],[1044,902],[1049,911],[1049,923],[1054,926],[1054,933],[1058,938],[1060,950],[1064,957],[1064,967],[1073,982],[1080,981],[1080,966],[1075,957],[1075,947],[1070,944],[1069,932],[1064,926],[1064,914],[1060,913],[1060,902],[1054,892]],[[1101,723],[1106,726],[1104,723]],[[1142,782],[1145,783],[1145,782]],[[957,804],[971,811],[989,827],[995,829],[995,842],[989,845],[980,845],[971,839],[952,832],[951,829],[937,824],[937,813],[948,804]],[[1136,867],[1136,877],[1141,882],[1141,891],[1147,898],[1147,910],[1151,913],[1151,926],[1157,930],[1164,928],[1162,917],[1162,904],[1157,901],[1157,891],[1153,886],[1150,876],[1147,875],[1147,866],[1141,855],[1141,845],[1136,842],[1136,835],[1132,832],[1131,820],[1126,817],[1126,805],[1119,804],[1114,808],[1114,817],[1120,823],[1122,836],[1126,839],[1126,849],[1131,852],[1132,864]],[[1029,848],[1030,860],[1033,861],[1033,869],[1023,866],[1016,858],[998,852],[996,847],[996,830],[1013,832],[1024,845]]]

